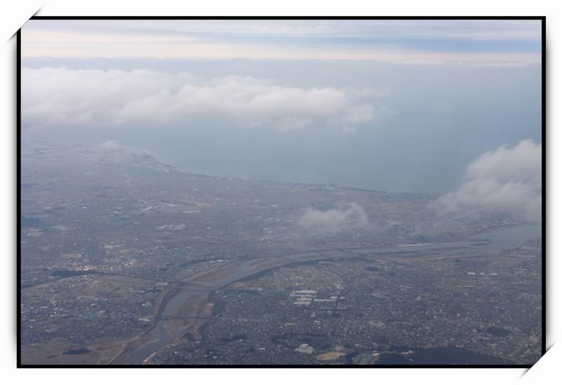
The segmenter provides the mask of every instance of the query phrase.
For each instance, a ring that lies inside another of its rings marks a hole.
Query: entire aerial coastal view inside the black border
[[[534,365],[543,32],[32,18],[18,365]]]

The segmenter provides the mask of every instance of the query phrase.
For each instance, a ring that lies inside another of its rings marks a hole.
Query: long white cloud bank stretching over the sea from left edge
[[[314,123],[343,129],[373,122],[375,115],[360,96],[332,87],[303,89],[251,77],[206,80],[152,70],[22,69],[24,128],[224,118],[277,130]]]

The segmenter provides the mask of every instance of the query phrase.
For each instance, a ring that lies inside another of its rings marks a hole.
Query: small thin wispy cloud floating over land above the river
[[[358,203],[341,205],[336,209],[306,209],[297,226],[308,233],[334,234],[346,230],[367,228],[367,213]]]

